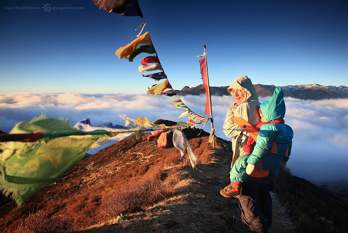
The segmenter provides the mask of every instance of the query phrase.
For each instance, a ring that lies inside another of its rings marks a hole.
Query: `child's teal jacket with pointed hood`
[[[282,89],[278,86],[271,98],[260,104],[262,114],[267,121],[284,118],[285,102]],[[289,159],[294,132],[288,125],[275,123],[264,124],[259,129],[254,150],[247,159],[248,164],[256,165],[266,153],[284,156],[283,161]],[[276,146],[271,146],[272,142]]]

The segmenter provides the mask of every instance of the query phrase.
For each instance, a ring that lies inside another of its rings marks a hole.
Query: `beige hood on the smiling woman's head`
[[[228,87],[227,91],[231,94],[232,89],[240,89],[244,91],[246,102],[252,100],[259,100],[258,94],[256,94],[253,83],[247,76],[240,76],[233,81],[233,83]],[[231,94],[232,95],[232,94]]]

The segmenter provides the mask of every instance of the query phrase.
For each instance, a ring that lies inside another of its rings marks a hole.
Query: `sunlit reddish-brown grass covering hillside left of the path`
[[[200,158],[197,164],[207,163],[211,151],[200,149],[207,138],[192,140]],[[187,155],[180,160],[176,148],[157,148],[144,139],[120,141],[82,160],[22,207],[16,208],[12,203],[3,208],[0,232],[31,232],[38,223],[37,232],[59,232],[54,224],[60,222],[78,231],[120,213],[143,210],[175,192],[180,180],[175,169],[187,165]]]

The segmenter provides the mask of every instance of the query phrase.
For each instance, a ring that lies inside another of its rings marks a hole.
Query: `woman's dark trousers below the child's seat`
[[[243,182],[242,196],[238,198],[245,232],[268,232],[272,224],[272,199],[269,177],[248,176]]]

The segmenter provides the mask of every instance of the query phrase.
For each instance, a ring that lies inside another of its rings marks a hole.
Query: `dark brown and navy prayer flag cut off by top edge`
[[[97,5],[99,9],[118,13],[122,16],[143,17],[138,0],[94,0],[94,4]]]

